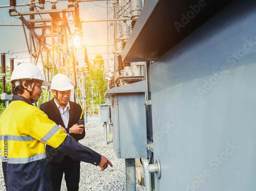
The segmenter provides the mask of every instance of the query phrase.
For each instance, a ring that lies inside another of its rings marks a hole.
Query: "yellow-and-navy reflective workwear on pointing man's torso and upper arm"
[[[11,102],[0,117],[5,183],[8,190],[28,190],[34,184],[32,190],[49,191],[44,143],[56,148],[67,135],[44,112],[20,99]]]

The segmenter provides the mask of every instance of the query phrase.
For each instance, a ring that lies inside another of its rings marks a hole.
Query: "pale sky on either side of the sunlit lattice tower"
[[[29,4],[29,0],[17,0],[16,4]],[[0,1],[0,6],[10,5],[9,0]],[[36,4],[38,5],[38,4]],[[107,18],[106,1],[97,2],[80,2],[80,19],[81,21],[99,20]],[[51,3],[45,4],[46,9],[51,9]],[[68,7],[68,1],[58,2],[56,4],[57,9],[66,9]],[[19,18],[11,17],[8,13],[10,7],[0,8],[0,25],[22,25],[22,21]],[[39,8],[37,8],[39,10]],[[28,11],[29,6],[16,7],[19,12]],[[47,18],[50,18],[48,15]],[[28,18],[27,18],[28,19]],[[74,25],[73,25],[74,26]],[[72,25],[71,25],[72,27]],[[107,44],[107,22],[83,22],[82,31],[84,43],[88,46],[87,52],[89,60],[94,59],[95,54],[106,53],[106,46],[95,46],[92,45],[103,45]],[[28,30],[26,30],[28,31]],[[21,52],[27,51],[27,43],[24,34],[23,27],[13,26],[0,26],[0,53]],[[91,55],[93,54],[93,55]],[[10,58],[14,59],[14,67],[17,62],[30,62],[28,52],[15,53],[12,55],[6,54],[6,65],[10,65]],[[107,58],[106,54],[102,54],[103,58]],[[83,59],[84,56],[78,55],[78,59]],[[106,62],[106,61],[105,61]]]

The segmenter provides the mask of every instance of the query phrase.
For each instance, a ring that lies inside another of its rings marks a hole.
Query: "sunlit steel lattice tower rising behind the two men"
[[[77,52],[86,52],[83,45],[82,27],[79,16],[79,2],[68,0],[66,9],[57,9],[57,0],[51,0],[51,9],[45,9],[46,1],[30,1],[24,6],[27,11],[17,12],[16,1],[10,1],[10,16],[22,21],[30,62],[41,63],[44,77],[51,81],[54,74],[67,75],[75,86],[72,100],[86,105],[86,90],[83,66],[76,59]],[[39,4],[36,5],[36,4]],[[21,6],[21,5],[20,5]],[[39,10],[38,10],[39,7]],[[71,26],[70,22],[75,25]],[[78,93],[79,92],[79,93]],[[48,95],[48,97],[47,97]],[[50,89],[42,94],[42,102],[50,100]]]

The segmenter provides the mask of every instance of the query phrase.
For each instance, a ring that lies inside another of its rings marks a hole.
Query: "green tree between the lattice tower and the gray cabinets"
[[[101,55],[96,55],[95,59],[102,59]],[[107,87],[107,81],[104,76],[104,61],[94,60],[89,62],[89,76],[86,77],[86,103],[87,105],[105,103],[104,93]]]

